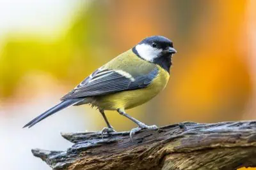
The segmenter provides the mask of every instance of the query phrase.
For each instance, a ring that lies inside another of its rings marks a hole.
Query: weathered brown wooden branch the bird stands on
[[[236,169],[256,167],[256,121],[184,122],[144,130],[104,134],[64,133],[74,143],[65,152],[34,149],[52,169]]]

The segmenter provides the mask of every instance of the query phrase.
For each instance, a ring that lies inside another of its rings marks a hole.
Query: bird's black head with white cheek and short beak
[[[150,36],[143,39],[138,45],[132,48],[141,59],[159,64],[159,66],[169,71],[172,65],[172,55],[177,51],[173,48],[170,39],[164,36]]]

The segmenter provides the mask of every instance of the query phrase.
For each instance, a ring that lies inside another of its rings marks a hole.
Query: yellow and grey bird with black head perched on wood
[[[99,67],[61,97],[59,104],[34,118],[24,127],[30,128],[68,106],[90,104],[99,110],[106,122],[107,127],[101,131],[102,138],[103,133],[116,132],[109,124],[105,115],[106,110],[115,110],[138,125],[130,131],[131,140],[132,136],[142,129],[157,129],[156,125],[146,125],[131,117],[125,110],[150,101],[166,87],[174,53],[177,51],[170,39],[164,36],[149,36]]]

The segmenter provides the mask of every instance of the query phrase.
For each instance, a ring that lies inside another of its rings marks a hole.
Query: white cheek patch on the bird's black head
[[[163,51],[146,44],[136,45],[135,48],[141,58],[150,62],[156,59],[159,56],[159,53]]]

